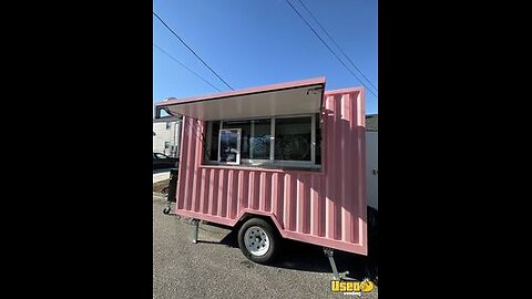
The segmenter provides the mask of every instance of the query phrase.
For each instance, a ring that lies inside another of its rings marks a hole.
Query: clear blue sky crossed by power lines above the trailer
[[[299,1],[289,1],[371,87]],[[301,1],[378,87],[377,0]],[[316,76],[326,76],[327,90],[361,86],[285,0],[154,0],[153,11],[235,90]],[[155,17],[153,42],[219,90],[228,90]],[[152,48],[154,103],[217,92]],[[377,97],[367,92],[366,113],[377,112]]]

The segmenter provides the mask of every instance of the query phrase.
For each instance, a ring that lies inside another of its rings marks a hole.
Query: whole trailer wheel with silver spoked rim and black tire
[[[252,218],[238,230],[238,247],[249,260],[267,264],[275,258],[279,239],[275,229],[264,219]]]

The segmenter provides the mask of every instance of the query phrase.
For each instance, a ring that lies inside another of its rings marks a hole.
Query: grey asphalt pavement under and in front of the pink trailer
[[[153,197],[153,298],[346,298],[332,293],[328,260],[318,246],[286,241],[272,266],[249,261],[236,234],[202,224],[192,243],[190,219],[164,215],[163,197]],[[173,213],[173,210],[172,210]],[[370,276],[364,257],[336,251],[338,270],[362,280]],[[378,287],[352,298],[378,298]]]

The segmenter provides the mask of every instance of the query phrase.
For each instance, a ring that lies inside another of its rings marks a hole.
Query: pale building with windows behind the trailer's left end
[[[180,156],[181,117],[153,120],[153,152]]]

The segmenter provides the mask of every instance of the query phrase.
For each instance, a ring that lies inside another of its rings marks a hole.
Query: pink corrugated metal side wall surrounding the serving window
[[[204,123],[184,117],[176,214],[229,226],[268,215],[286,238],[366,255],[364,91],[324,100],[321,172],[202,166]]]

